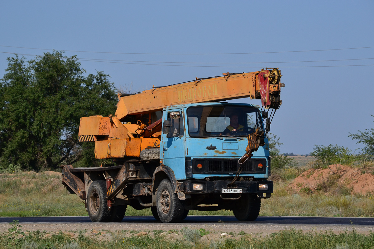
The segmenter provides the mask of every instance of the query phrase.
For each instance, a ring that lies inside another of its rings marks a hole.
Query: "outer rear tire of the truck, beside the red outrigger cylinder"
[[[88,216],[92,222],[108,222],[111,213],[108,210],[107,188],[104,180],[92,182],[87,193]]]

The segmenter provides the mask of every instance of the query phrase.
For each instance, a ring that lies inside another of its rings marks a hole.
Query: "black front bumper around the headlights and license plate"
[[[187,180],[179,182],[178,185],[184,194],[222,194],[223,188],[242,189],[243,194],[257,194],[260,197],[265,193],[266,198],[269,198],[270,194],[273,193],[273,181],[236,181],[235,187],[228,187],[230,183],[231,181]],[[202,190],[194,190],[193,184],[201,184]],[[267,190],[260,190],[259,184],[267,184]]]

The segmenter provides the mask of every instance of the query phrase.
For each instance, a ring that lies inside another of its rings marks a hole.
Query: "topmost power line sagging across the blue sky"
[[[55,49],[42,49],[35,47],[16,47],[16,46],[5,46],[0,45],[0,47],[13,47],[21,49],[38,49],[38,50],[55,50]],[[349,50],[349,49],[367,49],[374,48],[371,47],[349,47],[341,49],[317,49],[317,50],[295,50],[295,51],[279,51],[279,52],[248,52],[248,53],[122,53],[122,52],[99,52],[99,51],[80,51],[80,50],[63,50],[66,52],[80,52],[80,53],[112,53],[112,54],[125,54],[125,55],[250,55],[250,54],[264,54],[264,53],[298,53],[298,52],[320,52],[320,51],[334,51],[334,50]]]

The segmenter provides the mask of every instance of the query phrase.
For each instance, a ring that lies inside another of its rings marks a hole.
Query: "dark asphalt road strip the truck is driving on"
[[[55,216],[55,217],[0,217],[0,223],[92,223],[88,216]],[[122,222],[159,223],[153,216],[125,216]],[[373,225],[374,218],[353,217],[300,217],[300,216],[258,216],[255,221],[241,222],[234,216],[187,216],[181,224],[201,223],[215,224],[283,224],[283,225]]]

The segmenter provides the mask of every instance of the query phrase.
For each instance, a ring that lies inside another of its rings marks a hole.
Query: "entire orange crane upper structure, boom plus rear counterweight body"
[[[217,102],[229,99],[261,99],[262,105],[278,109],[281,74],[278,69],[261,70],[252,73],[230,74],[221,77],[197,79],[193,82],[165,87],[153,87],[141,93],[122,96],[118,93],[118,104],[114,116],[82,117],[79,125],[79,141],[95,142],[95,157],[123,158],[138,157],[140,151],[155,146],[161,140],[162,119],[147,125],[138,120],[141,114],[154,113],[164,107],[179,104]],[[136,123],[125,121],[135,116]],[[151,119],[149,119],[151,121]]]

